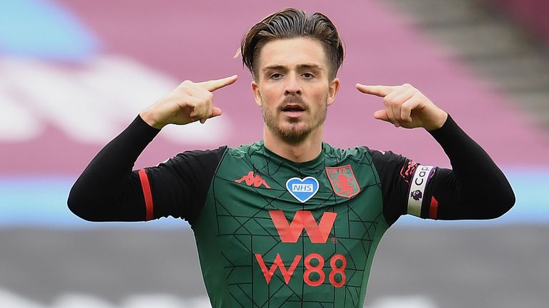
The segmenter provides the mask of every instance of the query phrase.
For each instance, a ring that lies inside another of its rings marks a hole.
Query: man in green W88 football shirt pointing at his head
[[[267,16],[241,53],[254,76],[263,140],[132,171],[165,125],[220,116],[212,93],[237,76],[184,81],[106,145],[69,195],[70,209],[86,220],[188,220],[213,307],[362,307],[377,244],[400,215],[490,219],[513,206],[513,190],[489,156],[410,85],[357,90],[383,98],[375,118],[425,128],[453,170],[322,143],[343,61],[326,16],[297,9]]]

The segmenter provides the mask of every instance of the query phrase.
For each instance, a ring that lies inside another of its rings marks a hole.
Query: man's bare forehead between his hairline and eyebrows
[[[322,43],[316,39],[277,39],[266,43],[259,53],[259,71],[267,66],[316,64],[327,70],[327,56]]]

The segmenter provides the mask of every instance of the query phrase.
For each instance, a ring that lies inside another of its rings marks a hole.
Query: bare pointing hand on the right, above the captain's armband
[[[408,83],[402,86],[365,86],[357,83],[356,87],[362,93],[382,97],[385,109],[376,111],[374,118],[396,127],[436,130],[446,122],[448,114]]]

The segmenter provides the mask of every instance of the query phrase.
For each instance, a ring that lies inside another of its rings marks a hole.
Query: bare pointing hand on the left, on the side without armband
[[[177,88],[139,116],[154,128],[162,129],[168,124],[184,125],[221,116],[221,109],[214,107],[213,91],[229,86],[238,76],[194,83],[183,81]]]

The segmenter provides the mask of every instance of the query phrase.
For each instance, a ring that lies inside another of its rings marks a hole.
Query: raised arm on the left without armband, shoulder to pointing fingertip
[[[143,111],[91,160],[71,189],[69,209],[91,221],[196,217],[224,148],[182,153],[154,168],[132,168],[164,125],[203,123],[219,116],[211,92],[234,81],[236,76],[204,83],[184,81]]]

